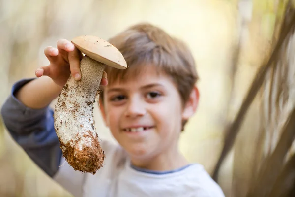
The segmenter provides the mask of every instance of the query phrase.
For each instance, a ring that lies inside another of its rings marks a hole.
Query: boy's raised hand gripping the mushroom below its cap
[[[36,70],[36,77],[49,76],[52,80],[63,87],[70,74],[76,79],[81,79],[80,60],[83,54],[66,39],[59,39],[57,48],[46,47],[44,54],[49,60],[49,66],[41,66]],[[108,83],[107,74],[103,72],[101,86]]]

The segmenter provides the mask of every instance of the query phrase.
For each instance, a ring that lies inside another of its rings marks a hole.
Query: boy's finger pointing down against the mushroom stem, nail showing
[[[80,53],[81,52],[75,48],[72,52],[69,52],[68,56],[71,74],[77,81],[81,79]]]

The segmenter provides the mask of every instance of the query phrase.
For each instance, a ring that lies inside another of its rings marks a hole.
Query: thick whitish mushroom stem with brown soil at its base
[[[67,162],[81,172],[95,174],[104,161],[93,119],[93,104],[105,64],[84,56],[81,79],[72,76],[64,85],[55,106],[55,129]]]

